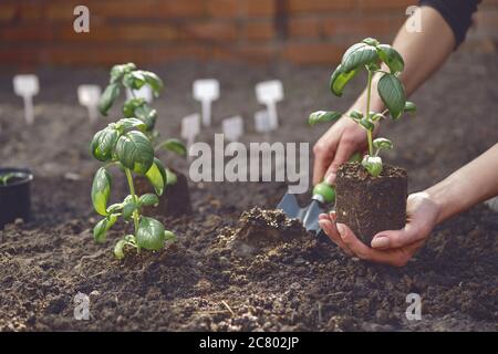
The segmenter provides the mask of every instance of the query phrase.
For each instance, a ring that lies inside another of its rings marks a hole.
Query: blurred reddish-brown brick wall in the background
[[[240,59],[330,64],[351,42],[366,35],[390,42],[406,19],[406,7],[414,3],[416,0],[1,0],[0,63]],[[90,9],[90,33],[73,31],[76,4]],[[485,0],[476,18],[469,42],[495,49],[498,0]]]

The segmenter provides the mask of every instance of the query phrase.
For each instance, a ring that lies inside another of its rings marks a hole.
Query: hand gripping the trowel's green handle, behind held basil
[[[378,126],[374,135],[377,131]],[[366,146],[366,131],[346,116],[340,118],[313,146],[313,185],[322,180],[333,185],[339,167]]]

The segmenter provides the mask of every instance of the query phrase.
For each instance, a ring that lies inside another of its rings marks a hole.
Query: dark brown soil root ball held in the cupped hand
[[[398,230],[406,221],[406,170],[384,164],[372,177],[361,164],[347,163],[335,181],[338,222],[347,225],[366,244],[380,231]]]

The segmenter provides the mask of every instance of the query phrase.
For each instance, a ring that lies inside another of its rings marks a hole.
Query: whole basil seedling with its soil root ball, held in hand
[[[352,111],[347,116],[365,129],[369,150],[361,162],[341,166],[335,179],[336,221],[347,225],[366,243],[375,233],[401,229],[406,221],[407,173],[383,163],[380,153],[393,148],[391,140],[373,139],[375,122],[384,119],[385,114],[397,121],[403,113],[416,110],[406,101],[404,86],[397,77],[403,69],[403,58],[395,49],[367,38],[347,49],[331,75],[330,88],[336,96],[342,96],[344,86],[362,70],[367,75],[366,110]],[[370,111],[374,75],[380,76],[377,92],[386,107],[384,112]],[[341,116],[341,112],[319,111],[310,115],[309,123],[334,122]]]

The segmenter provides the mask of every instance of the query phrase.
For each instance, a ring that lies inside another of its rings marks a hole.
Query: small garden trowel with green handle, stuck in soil
[[[287,192],[277,208],[283,210],[289,218],[300,220],[307,231],[312,231],[318,238],[321,238],[324,233],[319,225],[319,215],[328,212],[325,204],[333,202],[334,199],[334,189],[322,183],[313,188],[313,197],[307,207],[301,208],[298,199],[292,194]]]

